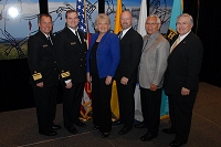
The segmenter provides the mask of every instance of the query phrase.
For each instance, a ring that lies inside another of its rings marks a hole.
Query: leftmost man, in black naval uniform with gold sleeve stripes
[[[40,31],[30,36],[28,41],[28,62],[32,77],[30,83],[33,88],[36,106],[39,133],[54,136],[54,129],[61,128],[54,125],[56,108],[56,94],[59,85],[59,72],[54,59],[52,18],[50,14],[40,14]]]

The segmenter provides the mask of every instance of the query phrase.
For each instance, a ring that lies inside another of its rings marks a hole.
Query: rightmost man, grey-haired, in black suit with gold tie
[[[169,98],[171,127],[162,129],[176,134],[170,146],[181,146],[188,141],[192,108],[199,88],[199,77],[203,46],[191,31],[192,17],[183,13],[177,18],[177,34],[171,42],[168,67],[165,74],[165,92]],[[179,43],[177,43],[179,42]]]

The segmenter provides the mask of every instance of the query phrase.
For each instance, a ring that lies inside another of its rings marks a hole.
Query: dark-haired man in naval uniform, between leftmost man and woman
[[[66,27],[55,36],[57,66],[63,85],[63,117],[66,129],[76,134],[73,126],[85,127],[80,120],[80,107],[86,82],[86,42],[84,34],[77,31],[78,15],[75,10],[65,14]]]

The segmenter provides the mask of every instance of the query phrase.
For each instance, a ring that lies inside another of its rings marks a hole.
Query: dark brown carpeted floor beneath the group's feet
[[[57,105],[56,124],[63,126],[62,104]],[[93,130],[92,120],[87,127],[76,126],[78,134],[72,135],[62,127],[55,137],[38,134],[35,108],[0,113],[0,147],[166,147],[173,135],[161,132],[169,126],[169,119],[161,120],[159,136],[151,141],[140,141],[146,129],[133,128],[126,135],[118,135],[122,126],[113,126],[108,138]],[[221,88],[200,83],[192,118],[189,141],[183,147],[221,146]]]

